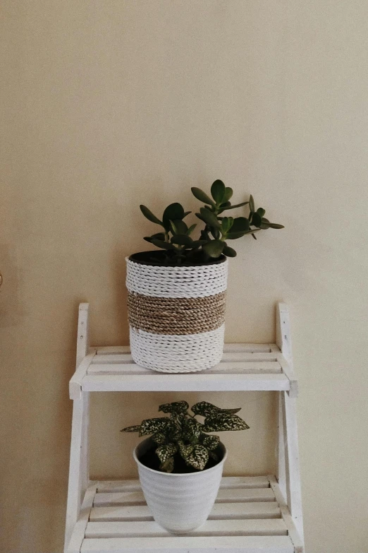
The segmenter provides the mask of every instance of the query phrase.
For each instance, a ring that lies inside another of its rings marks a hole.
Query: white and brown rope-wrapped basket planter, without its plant
[[[126,258],[130,350],[160,372],[214,367],[223,353],[228,261],[160,266]]]

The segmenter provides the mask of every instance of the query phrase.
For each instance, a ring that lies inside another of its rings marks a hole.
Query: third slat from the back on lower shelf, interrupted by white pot
[[[281,518],[281,510],[276,501],[216,503],[209,515],[209,521],[246,518]],[[153,521],[153,517],[147,505],[93,507],[90,521]]]

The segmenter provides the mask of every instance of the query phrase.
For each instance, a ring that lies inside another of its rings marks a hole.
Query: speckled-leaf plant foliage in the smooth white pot
[[[151,436],[159,458],[159,470],[173,472],[175,456],[180,456],[188,467],[203,470],[209,458],[219,461],[216,448],[219,436],[209,432],[245,430],[248,425],[235,413],[240,409],[221,409],[207,401],[195,403],[189,412],[186,401],[164,403],[159,411],[168,417],[146,419],[141,424],[123,428],[121,432],[139,432],[140,436]],[[204,422],[195,417],[202,415]]]

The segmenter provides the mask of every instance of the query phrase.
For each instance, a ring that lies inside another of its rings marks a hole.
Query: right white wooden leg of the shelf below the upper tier
[[[300,486],[296,399],[290,398],[287,393],[283,393],[282,398],[284,414],[283,423],[286,429],[286,474],[288,475],[287,489],[289,490],[288,508],[300,537],[303,540],[302,492]]]

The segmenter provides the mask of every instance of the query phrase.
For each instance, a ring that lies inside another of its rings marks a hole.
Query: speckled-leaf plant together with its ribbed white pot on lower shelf
[[[133,453],[140,483],[154,520],[174,534],[199,528],[209,516],[221,482],[227,451],[219,436],[209,432],[245,430],[235,413],[201,401],[160,405],[168,417],[147,419],[121,432],[151,436]],[[195,417],[202,415],[201,423]]]

